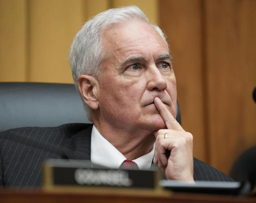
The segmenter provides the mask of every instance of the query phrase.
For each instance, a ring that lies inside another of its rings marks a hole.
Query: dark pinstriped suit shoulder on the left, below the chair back
[[[25,127],[1,132],[0,184],[22,187],[41,185],[43,162],[49,158],[62,157],[54,150],[55,147],[63,148],[74,134],[83,132],[89,126],[91,125],[64,124],[57,127]]]

